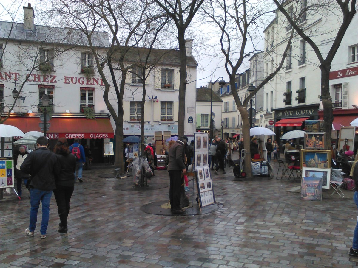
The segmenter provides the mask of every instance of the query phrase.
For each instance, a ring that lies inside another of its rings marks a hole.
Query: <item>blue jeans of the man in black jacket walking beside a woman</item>
[[[48,219],[50,215],[50,200],[52,195],[52,190],[45,191],[36,188],[31,188],[30,190],[31,199],[30,199],[30,232],[34,232],[36,229],[37,222],[37,212],[39,210],[40,201],[42,204],[42,220],[41,220],[41,234],[46,234]]]

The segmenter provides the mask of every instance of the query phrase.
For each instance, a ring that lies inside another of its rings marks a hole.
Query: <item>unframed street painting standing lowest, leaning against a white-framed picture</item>
[[[301,181],[301,199],[322,201],[322,178],[303,177]]]

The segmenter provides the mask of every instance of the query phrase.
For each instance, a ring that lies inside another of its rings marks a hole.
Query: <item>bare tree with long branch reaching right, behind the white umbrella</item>
[[[205,6],[205,14],[211,18],[222,33],[220,38],[220,49],[225,60],[224,66],[227,74],[229,75],[232,95],[243,121],[242,132],[244,138],[244,148],[248,152],[245,158],[245,163],[251,163],[251,126],[248,119],[248,102],[251,98],[253,98],[253,96],[255,96],[257,91],[263,87],[263,85],[270,81],[280,71],[293,37],[292,31],[290,37],[287,38],[287,46],[282,51],[282,58],[279,64],[275,66],[275,70],[267,75],[262,82],[256,86],[256,89],[241,102],[235,87],[236,74],[240,66],[243,64],[243,61],[247,57],[250,57],[252,53],[259,51],[254,45],[255,39],[257,39],[255,34],[258,31],[259,25],[265,23],[264,16],[269,12],[272,12],[272,10],[267,11],[267,6],[262,4],[251,4],[245,0],[215,0],[210,1],[209,5]],[[252,47],[250,47],[250,45],[252,45]],[[245,171],[248,177],[252,176],[251,165],[245,165]]]

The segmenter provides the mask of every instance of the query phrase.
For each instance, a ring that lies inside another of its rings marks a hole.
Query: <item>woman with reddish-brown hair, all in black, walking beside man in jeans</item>
[[[58,224],[58,232],[67,233],[67,217],[69,213],[69,200],[74,190],[74,172],[76,171],[76,157],[69,152],[65,138],[59,138],[54,149],[60,172],[55,174],[55,195],[58,215],[61,222]]]

